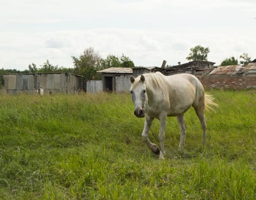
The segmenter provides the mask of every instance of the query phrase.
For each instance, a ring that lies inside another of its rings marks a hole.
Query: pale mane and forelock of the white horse
[[[150,87],[153,89],[161,89],[161,87],[165,85],[164,75],[160,72],[147,73],[143,74],[143,76],[145,77],[146,87]],[[135,79],[132,87],[136,87],[139,84],[139,81],[139,78]]]

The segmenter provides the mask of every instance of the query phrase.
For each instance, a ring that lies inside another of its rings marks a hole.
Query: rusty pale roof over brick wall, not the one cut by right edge
[[[219,66],[211,71],[210,75],[213,74],[241,74],[243,73],[243,66],[241,65],[228,65],[228,66]]]

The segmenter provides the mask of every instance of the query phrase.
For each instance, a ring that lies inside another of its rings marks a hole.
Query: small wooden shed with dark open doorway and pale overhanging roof
[[[130,77],[133,75],[133,69],[127,67],[110,67],[97,71],[97,73],[102,75],[103,91],[115,91],[117,93],[129,91],[131,86]]]

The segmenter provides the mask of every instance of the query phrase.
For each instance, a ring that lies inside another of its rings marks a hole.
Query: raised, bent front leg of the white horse
[[[149,129],[150,129],[150,126],[152,125],[152,122],[153,122],[153,117],[149,117],[149,116],[145,116],[145,123],[144,123],[144,129],[142,131],[142,141],[146,143],[146,145],[148,145],[149,149],[152,150],[152,152],[154,154],[159,154],[160,153],[160,150],[159,148],[157,147],[156,144],[150,142],[149,140]]]

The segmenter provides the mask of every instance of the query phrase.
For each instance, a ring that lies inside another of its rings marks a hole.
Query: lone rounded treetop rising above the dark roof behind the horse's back
[[[209,47],[197,45],[190,49],[190,53],[186,58],[188,61],[207,61],[207,55],[210,52]]]

